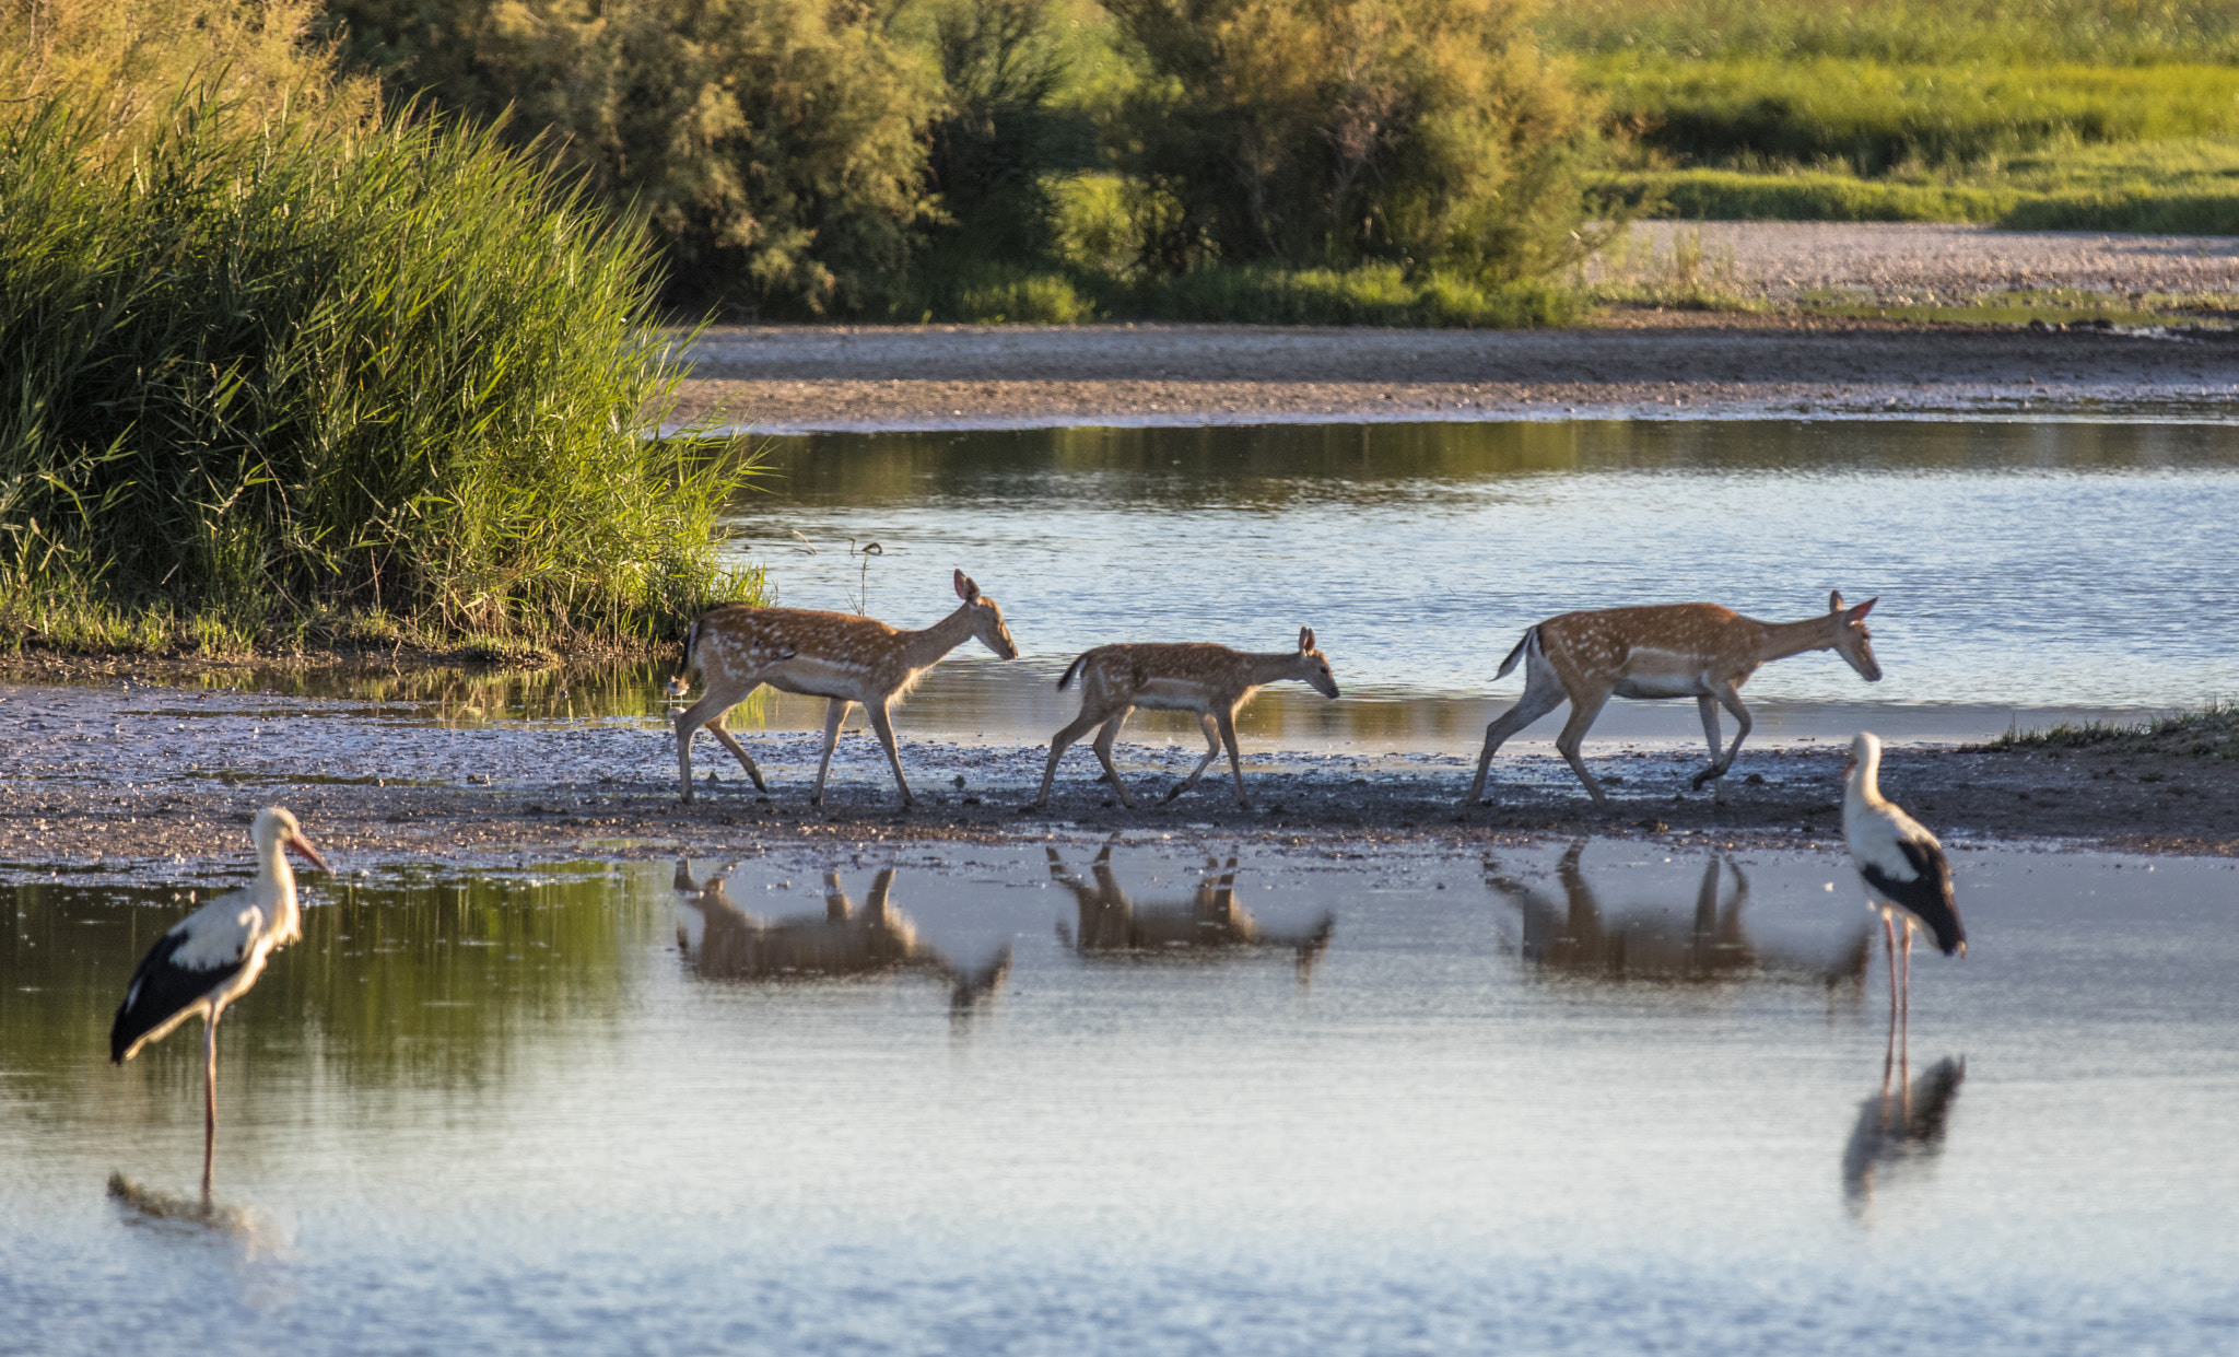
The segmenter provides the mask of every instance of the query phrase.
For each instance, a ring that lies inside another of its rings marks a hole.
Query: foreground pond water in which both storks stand
[[[208,1207],[195,1028],[103,1061],[186,902],[13,889],[0,1348],[2239,1341],[2219,862],[1961,851],[1887,1077],[1811,851],[345,880],[222,1026]]]

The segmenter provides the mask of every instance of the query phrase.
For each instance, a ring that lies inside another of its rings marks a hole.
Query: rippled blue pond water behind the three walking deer
[[[1769,665],[1746,690],[1767,737],[1975,737],[2232,694],[2228,629],[2203,625],[2239,614],[2226,425],[844,434],[784,441],[772,470],[734,526],[781,602],[925,625],[954,567],[1003,602],[1025,658],[958,652],[914,699],[920,730],[1039,739],[1072,705],[1050,678],[1090,645],[1276,649],[1310,625],[1348,701],[1272,690],[1263,730],[1473,748],[1487,699],[1523,683],[1493,670],[1540,618],[1713,600],[1780,620],[1829,589],[1881,598],[1887,678]],[[1614,703],[1599,730],[1697,739],[1693,703]]]

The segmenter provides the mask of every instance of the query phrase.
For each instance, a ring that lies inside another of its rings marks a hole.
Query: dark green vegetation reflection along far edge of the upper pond
[[[1066,428],[772,439],[775,495],[748,517],[815,504],[1039,499],[1064,481],[1106,502],[1388,499],[1422,481],[1545,472],[2109,470],[2228,466],[2230,432],[2120,423],[1502,421],[1227,428]]]

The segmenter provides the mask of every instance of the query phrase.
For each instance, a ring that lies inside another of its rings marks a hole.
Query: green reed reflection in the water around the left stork
[[[316,1061],[352,1084],[499,1077],[546,1023],[622,1008],[622,945],[658,900],[649,871],[305,878],[305,936],[226,1012],[219,1044],[251,1050],[224,1059],[246,1055],[249,1070]],[[78,1066],[105,1050],[134,961],[188,909],[168,889],[16,887],[16,927],[0,947],[0,1064],[45,1091],[87,1088]],[[199,1077],[199,1052],[179,1050],[141,1061],[166,1095]],[[123,1088],[90,1086],[96,1097]]]

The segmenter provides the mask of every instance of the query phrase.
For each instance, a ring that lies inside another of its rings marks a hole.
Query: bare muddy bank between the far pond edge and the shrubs
[[[2228,419],[2239,334],[1632,311],[1590,329],[721,327],[667,423],[759,432],[1440,419]]]

